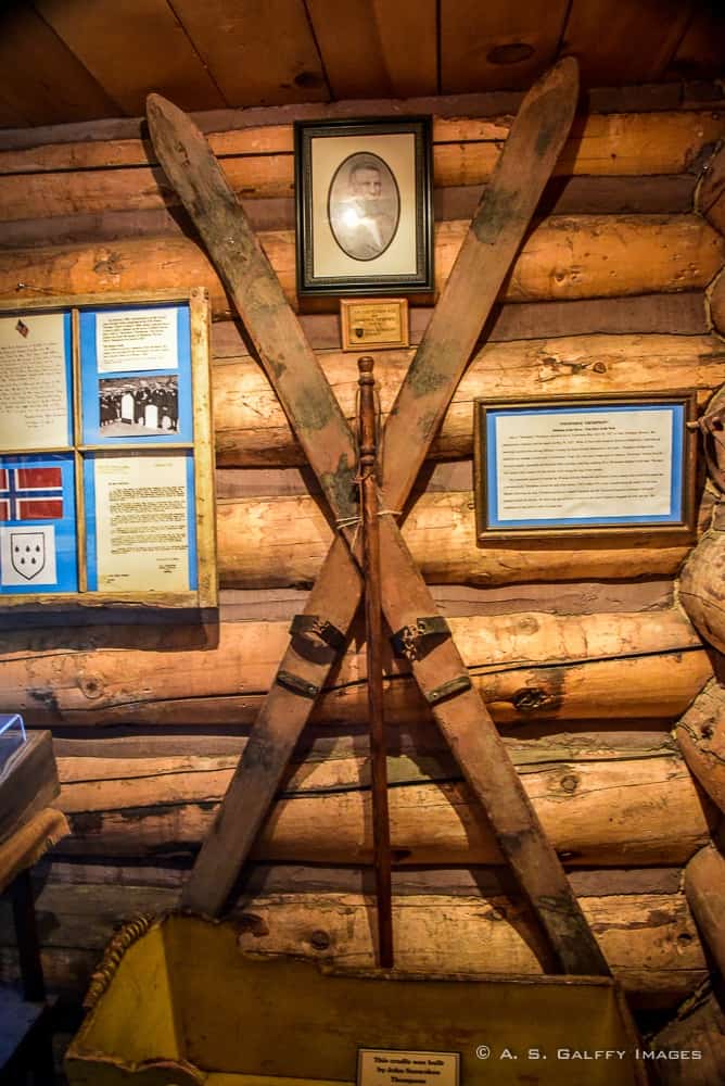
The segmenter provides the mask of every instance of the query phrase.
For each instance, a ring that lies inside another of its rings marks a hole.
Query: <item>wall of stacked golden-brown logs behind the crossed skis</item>
[[[212,116],[205,127],[297,305],[292,129],[284,111],[253,121],[225,114],[224,130]],[[132,624],[102,611],[0,617],[0,710],[22,708],[54,733],[73,836],[39,872],[39,910],[51,982],[75,990],[114,925],[176,905],[332,539],[213,268],[138,124],[124,125],[0,134],[0,298],[208,288],[222,605],[218,623],[201,626],[163,614]],[[509,117],[460,118],[440,102],[437,289],[509,128]],[[694,192],[724,137],[711,109],[577,121],[403,522],[605,955],[650,1008],[707,975],[681,876],[718,812],[670,734],[717,665],[681,608],[688,548],[653,535],[476,546],[472,401],[692,388],[707,405],[725,383],[711,289],[725,239]],[[430,299],[412,304],[411,350],[377,355],[383,414],[431,316]],[[334,307],[302,310],[352,417],[356,367]],[[713,501],[701,479],[700,534]],[[365,674],[358,630],[233,905],[254,949],[371,960]],[[536,970],[536,932],[393,659],[385,697],[400,964]],[[4,913],[0,967],[15,968]]]

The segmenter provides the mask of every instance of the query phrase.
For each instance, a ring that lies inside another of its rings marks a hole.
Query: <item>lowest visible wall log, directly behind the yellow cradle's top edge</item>
[[[139,912],[174,908],[175,889],[68,886],[49,882],[37,901],[51,983],[79,990],[113,926]],[[583,897],[582,908],[614,976],[639,1006],[672,1006],[707,976],[692,918],[682,894]],[[370,897],[307,893],[249,896],[233,918],[252,951],[303,955],[322,962],[372,962]],[[411,971],[537,974],[538,942],[521,905],[507,896],[447,895],[394,899],[396,964]],[[435,935],[431,918],[435,918]],[[14,959],[3,925],[0,968]],[[75,975],[74,975],[75,971]]]

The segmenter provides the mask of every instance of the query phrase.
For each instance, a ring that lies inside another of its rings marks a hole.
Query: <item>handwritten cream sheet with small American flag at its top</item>
[[[68,443],[62,313],[0,317],[0,447]]]

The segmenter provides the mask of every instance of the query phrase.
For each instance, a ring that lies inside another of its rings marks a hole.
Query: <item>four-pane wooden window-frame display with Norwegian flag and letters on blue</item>
[[[217,604],[206,291],[0,304],[0,607]]]

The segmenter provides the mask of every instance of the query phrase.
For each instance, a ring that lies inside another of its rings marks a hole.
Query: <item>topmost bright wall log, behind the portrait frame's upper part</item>
[[[510,121],[437,119],[433,184],[483,185],[492,175]],[[555,176],[641,176],[687,169],[725,136],[712,112],[589,116],[575,123]],[[292,126],[209,136],[231,188],[245,200],[294,192]],[[5,222],[175,206],[178,197],[141,140],[82,142],[0,152],[0,206]]]

